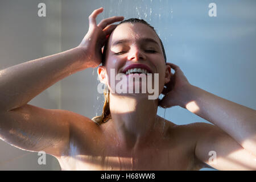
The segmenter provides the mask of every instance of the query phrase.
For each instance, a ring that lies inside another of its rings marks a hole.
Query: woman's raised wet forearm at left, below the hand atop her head
[[[0,71],[0,110],[27,104],[55,82],[86,68],[80,48],[27,61]]]

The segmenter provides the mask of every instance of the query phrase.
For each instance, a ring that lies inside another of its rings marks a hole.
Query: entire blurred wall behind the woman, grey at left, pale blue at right
[[[210,17],[209,3],[217,16]],[[38,4],[46,4],[46,17]],[[155,27],[167,61],[179,65],[192,85],[256,109],[256,1],[242,0],[0,0],[0,69],[76,47],[88,31],[88,16],[104,7],[101,19],[120,15],[146,20]],[[65,109],[92,118],[100,115],[104,97],[97,93],[97,68],[77,72],[52,85],[28,104]],[[207,122],[181,107],[158,114],[183,125]],[[59,170],[47,155],[38,164],[35,152],[0,140],[0,170]],[[205,168],[207,170],[207,168]]]

